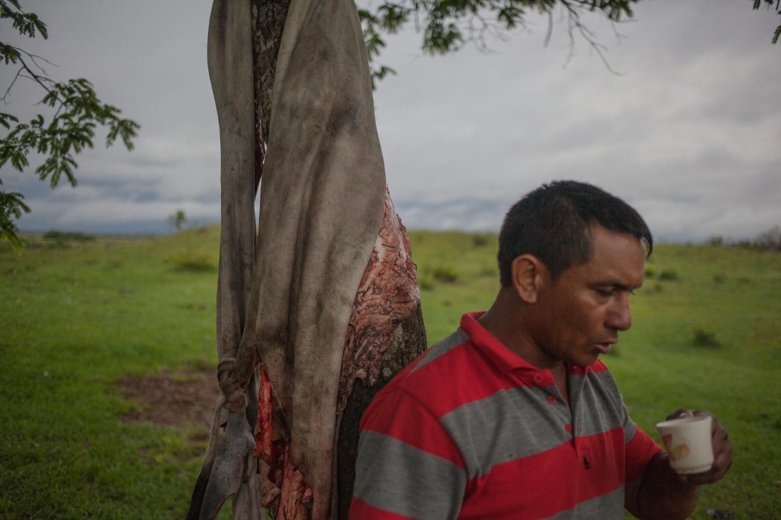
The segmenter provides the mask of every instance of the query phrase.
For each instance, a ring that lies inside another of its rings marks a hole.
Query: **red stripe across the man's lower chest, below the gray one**
[[[624,483],[623,429],[578,437],[530,457],[495,465],[466,486],[460,518],[546,518]],[[583,463],[589,459],[590,468]],[[514,490],[508,493],[508,490]]]

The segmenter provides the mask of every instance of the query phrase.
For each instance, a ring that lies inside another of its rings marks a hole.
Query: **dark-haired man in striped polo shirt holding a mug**
[[[501,289],[388,383],[362,419],[350,518],[686,518],[700,485],[637,428],[597,360],[629,329],[653,240],[586,183],[532,191],[505,216]],[[677,411],[670,418],[703,411]]]

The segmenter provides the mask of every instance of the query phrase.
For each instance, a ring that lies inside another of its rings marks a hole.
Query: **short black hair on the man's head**
[[[501,285],[512,285],[512,261],[520,255],[539,258],[554,281],[572,265],[588,262],[594,253],[589,230],[595,225],[644,241],[646,258],[651,255],[651,231],[620,198],[574,180],[558,180],[530,191],[510,208],[501,225],[497,255]]]

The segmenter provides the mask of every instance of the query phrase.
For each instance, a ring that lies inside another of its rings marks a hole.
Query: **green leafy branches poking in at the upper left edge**
[[[0,0],[0,21],[4,20],[10,20],[11,26],[23,36],[33,38],[40,34],[44,39],[48,38],[46,24],[34,12],[23,11],[19,0]],[[9,162],[21,172],[30,165],[27,156],[32,151],[45,157],[43,164],[35,169],[41,180],[48,178],[49,185],[54,188],[64,175],[75,187],[73,170],[77,168],[77,163],[74,156],[84,148],[92,148],[96,126],[106,128],[107,147],[119,137],[127,150],[133,149],[133,138],[141,126],[132,119],[121,118],[119,114],[122,111],[116,106],[102,103],[88,80],[52,80],[41,66],[41,62],[50,62],[7,41],[0,41],[0,62],[17,67],[12,75],[4,74],[12,80],[0,101],[7,105],[16,81],[23,78],[43,89],[44,96],[39,105],[54,111],[48,122],[42,114],[38,114],[29,123],[19,123],[16,116],[0,112],[0,125],[9,130],[0,139],[0,167]],[[22,240],[14,220],[30,212],[23,198],[17,192],[0,191],[0,240],[8,240],[17,252],[22,247]]]

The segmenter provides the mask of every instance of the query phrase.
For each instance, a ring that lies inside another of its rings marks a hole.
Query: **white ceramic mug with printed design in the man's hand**
[[[670,466],[682,475],[707,472],[713,465],[710,415],[682,417],[656,425]]]

